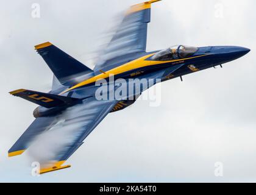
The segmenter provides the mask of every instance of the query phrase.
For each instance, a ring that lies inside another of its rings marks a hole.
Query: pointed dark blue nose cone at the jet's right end
[[[251,49],[238,46],[216,46],[212,51],[214,54],[218,55],[219,59],[222,59],[224,62],[229,62],[246,55]]]

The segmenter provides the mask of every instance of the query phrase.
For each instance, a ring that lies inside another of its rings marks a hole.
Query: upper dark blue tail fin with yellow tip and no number
[[[35,46],[60,83],[69,82],[73,77],[93,72],[90,68],[66,54],[50,42]]]

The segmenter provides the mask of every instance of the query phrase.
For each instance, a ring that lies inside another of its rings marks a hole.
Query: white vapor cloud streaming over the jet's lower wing
[[[67,108],[57,116],[56,121],[29,147],[29,156],[41,166],[49,166],[73,152],[95,125],[99,109],[104,101],[88,101]]]

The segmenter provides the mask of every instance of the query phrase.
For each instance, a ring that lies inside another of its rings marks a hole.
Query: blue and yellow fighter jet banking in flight
[[[163,82],[176,77],[182,79],[185,74],[219,65],[222,67],[222,64],[238,59],[250,51],[238,46],[197,48],[179,45],[146,52],[151,4],[157,1],[160,0],[130,7],[94,69],[78,62],[49,42],[35,46],[38,54],[54,73],[52,90],[49,93],[24,89],[10,92],[13,96],[40,106],[34,110],[35,121],[9,150],[9,157],[23,154],[41,133],[52,130],[55,124],[60,125],[60,120],[62,126],[67,127],[68,124],[79,122],[79,126],[72,127],[76,136],[63,144],[59,154],[49,159],[51,163],[42,166],[40,173],[68,168],[70,165],[63,163],[83,144],[85,138],[108,113],[122,110],[136,101],[97,100],[97,80],[106,79],[109,82],[110,75],[114,75],[115,79],[126,80],[161,79]],[[77,112],[77,108],[82,112]]]

